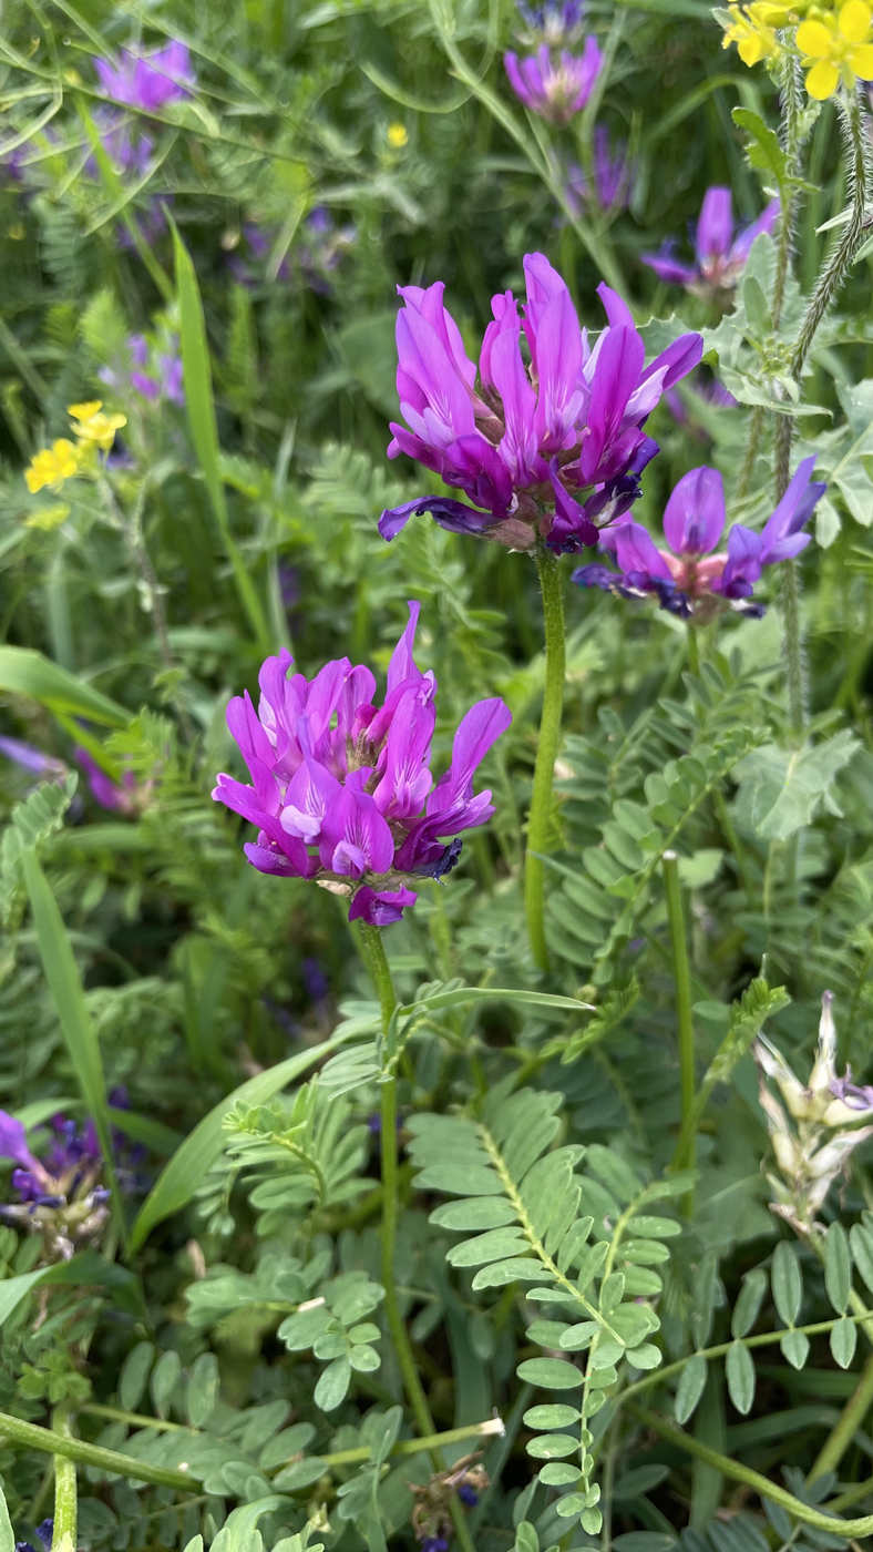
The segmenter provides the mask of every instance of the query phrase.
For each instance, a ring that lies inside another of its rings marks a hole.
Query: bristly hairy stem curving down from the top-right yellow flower
[[[819,324],[822,323],[825,314],[828,312],[834,296],[844,286],[848,272],[854,262],[854,255],[864,236],[864,219],[867,206],[867,185],[868,185],[868,133],[867,133],[867,113],[861,102],[861,88],[847,93],[837,99],[837,109],[840,115],[840,129],[845,147],[845,161],[848,171],[848,186],[851,191],[851,202],[848,206],[848,220],[842,230],[842,237],[839,239],[831,258],[825,264],[813,296],[809,298],[809,306],[803,323],[800,324],[800,332],[797,335],[794,351],[791,354],[791,374],[799,383],[803,376],[803,368],[806,359],[813,348],[813,340]],[[794,417],[789,414],[777,416],[775,427],[775,500],[782,501],[789,480],[791,480],[791,444],[794,441]],[[791,728],[795,737],[803,736],[803,728],[806,723],[806,674],[803,663],[803,638],[800,629],[800,580],[797,574],[797,562],[785,560],[782,565],[782,608],[785,619],[785,658],[788,672],[788,706],[791,715]]]

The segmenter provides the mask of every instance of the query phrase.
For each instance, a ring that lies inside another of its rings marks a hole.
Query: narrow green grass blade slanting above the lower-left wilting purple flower
[[[70,1054],[76,1079],[79,1080],[85,1110],[96,1127],[104,1156],[104,1167],[107,1172],[107,1184],[112,1190],[112,1212],[121,1238],[126,1243],[127,1231],[124,1226],[118,1180],[115,1176],[105,1076],[102,1071],[102,1057],[96,1029],[85,1004],[85,993],[82,990],[79,968],[76,965],[76,959],[73,958],[73,948],[70,947],[70,937],[64,925],[64,917],[57,909],[57,902],[36,858],[36,852],[25,850],[22,854],[22,869],[31,902],[45,978],[48,981],[51,996],[54,998],[60,1029],[64,1031],[67,1051]]]

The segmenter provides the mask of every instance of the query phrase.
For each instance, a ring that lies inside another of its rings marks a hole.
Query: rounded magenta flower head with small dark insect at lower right
[[[474,796],[473,776],[512,722],[502,700],[478,702],[434,785],[437,686],[412,658],[419,610],[409,604],[381,708],[363,664],[341,658],[307,681],[302,674],[288,678],[288,652],[267,658],[257,712],[248,694],[228,706],[253,785],[220,774],[212,793],[257,826],[245,854],[261,872],[313,878],[350,896],[349,920],[377,927],[400,920],[416,902],[416,880],[450,872],[459,833],[490,819],[492,795]]]

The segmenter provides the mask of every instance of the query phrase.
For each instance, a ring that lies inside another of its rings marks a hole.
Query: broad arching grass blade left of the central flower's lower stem
[[[223,1142],[222,1122],[237,1099],[250,1105],[264,1103],[273,1094],[278,1094],[281,1088],[293,1083],[310,1066],[315,1066],[316,1062],[321,1062],[330,1051],[336,1051],[349,1038],[347,1034],[333,1035],[332,1040],[324,1040],[319,1046],[312,1046],[309,1051],[299,1051],[296,1057],[288,1057],[287,1062],[279,1062],[278,1066],[247,1079],[245,1083],[234,1088],[233,1094],[222,1099],[208,1116],[203,1116],[203,1121],[194,1127],[194,1131],[189,1133],[166,1169],[161,1170],[140,1207],[130,1231],[130,1248],[138,1251],[158,1223],[163,1223],[164,1218],[188,1206],[216,1159],[220,1158]]]

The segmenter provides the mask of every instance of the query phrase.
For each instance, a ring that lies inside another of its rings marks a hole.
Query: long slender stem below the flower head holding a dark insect
[[[391,1017],[397,1007],[397,995],[394,992],[394,981],[391,979],[391,967],[385,953],[385,944],[381,941],[381,931],[378,927],[371,927],[369,922],[361,923],[361,937],[364,944],[364,951],[367,958],[367,968],[375,986],[378,1003],[381,1007],[381,1032],[388,1044]],[[397,1282],[394,1279],[394,1259],[397,1251],[397,1220],[400,1215],[400,1203],[397,1193],[397,1079],[394,1071],[386,1077],[381,1085],[381,1282],[385,1287],[385,1318],[388,1321],[388,1330],[391,1332],[391,1341],[394,1344],[394,1352],[397,1355],[397,1363],[400,1366],[400,1378],[403,1380],[403,1389],[406,1392],[406,1400],[412,1409],[412,1417],[416,1419],[416,1428],[422,1434],[422,1439],[430,1439],[436,1432],[434,1420],[431,1417],[431,1409],[428,1406],[428,1398],[425,1395],[423,1384],[416,1367],[416,1356],[412,1353],[412,1344],[409,1342],[409,1333],[406,1324],[400,1313],[400,1301],[397,1297]],[[439,1448],[430,1445],[430,1456],[434,1471],[442,1471],[443,1457]],[[464,1510],[453,1495],[450,1501],[451,1507],[451,1523],[454,1526],[454,1533],[464,1549],[464,1552],[474,1552],[473,1541],[470,1540],[470,1530],[464,1518]]]

